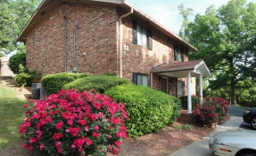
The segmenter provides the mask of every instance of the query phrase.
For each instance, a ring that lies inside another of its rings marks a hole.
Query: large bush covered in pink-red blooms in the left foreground
[[[117,154],[128,137],[123,104],[91,92],[61,90],[28,108],[20,127],[24,147],[47,155]]]

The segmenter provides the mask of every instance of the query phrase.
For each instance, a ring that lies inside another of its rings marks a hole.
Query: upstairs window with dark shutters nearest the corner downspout
[[[133,20],[133,43],[144,46],[149,50],[153,50],[153,40],[152,31],[146,29],[141,25],[138,25],[136,21]]]

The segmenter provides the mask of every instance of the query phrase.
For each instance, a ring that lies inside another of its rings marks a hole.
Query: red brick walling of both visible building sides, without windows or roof
[[[27,35],[27,65],[43,75],[73,71],[77,67],[79,73],[108,72],[119,76],[120,14],[123,13],[113,5],[59,5]],[[174,44],[185,49],[184,61],[188,61],[188,50],[185,47],[150,24],[144,23],[143,26],[151,28],[153,32],[153,51],[133,43],[132,20],[133,15],[122,20],[122,41],[129,49],[122,51],[123,78],[132,82],[133,73],[139,73],[147,74],[150,81],[150,71],[154,66],[175,62]],[[159,78],[161,75],[153,74],[155,90],[161,90]],[[170,95],[177,96],[178,80],[186,84],[186,78],[167,77],[167,82],[170,82],[168,86],[171,86],[171,90],[168,89]],[[194,79],[192,81],[194,83]]]

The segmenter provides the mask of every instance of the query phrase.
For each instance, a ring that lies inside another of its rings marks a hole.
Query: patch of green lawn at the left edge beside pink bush
[[[0,150],[21,142],[19,127],[25,117],[24,104],[28,101],[17,98],[15,90],[0,86]]]

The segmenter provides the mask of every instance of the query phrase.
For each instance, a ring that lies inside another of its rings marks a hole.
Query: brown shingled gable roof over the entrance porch
[[[162,64],[152,68],[151,73],[161,74],[169,77],[187,77],[187,72],[191,71],[191,77],[210,76],[211,73],[203,60],[193,60],[187,62],[177,62]]]

